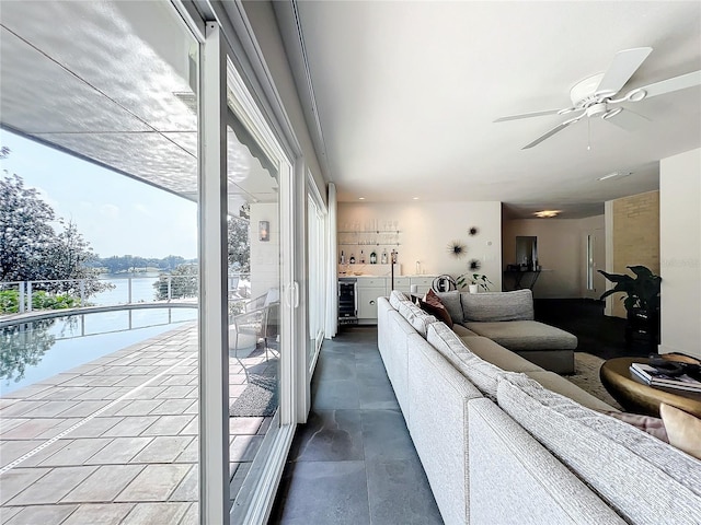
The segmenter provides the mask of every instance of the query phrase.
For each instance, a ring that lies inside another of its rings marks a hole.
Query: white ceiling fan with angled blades
[[[504,122],[507,120],[517,120],[520,118],[540,117],[543,115],[567,115],[570,113],[579,112],[575,117],[568,118],[564,122],[559,124],[550,131],[541,135],[532,142],[526,144],[522,149],[527,150],[533,145],[540,144],[543,140],[562,131],[567,126],[578,122],[584,117],[601,117],[604,120],[616,124],[624,129],[635,129],[642,121],[647,118],[625,109],[621,106],[624,102],[640,102],[652,96],[664,95],[673,91],[701,85],[701,71],[692,71],[690,73],[674,77],[671,79],[662,80],[653,84],[643,85],[629,91],[624,96],[614,98],[618,92],[625,85],[637,68],[645,61],[652,52],[652,47],[635,47],[633,49],[623,49],[618,51],[613,57],[613,62],[605,73],[598,73],[572,88],[570,97],[572,106],[564,109],[551,109],[545,112],[524,113],[520,115],[510,115],[494,120],[495,122]]]

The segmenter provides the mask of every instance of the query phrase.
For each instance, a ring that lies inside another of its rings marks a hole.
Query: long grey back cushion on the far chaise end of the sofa
[[[461,292],[460,301],[462,303],[462,318],[466,323],[533,319],[533,294],[530,290]]]

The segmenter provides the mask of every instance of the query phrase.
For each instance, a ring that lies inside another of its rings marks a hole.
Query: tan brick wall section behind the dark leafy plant
[[[632,195],[611,201],[611,260],[613,273],[631,273],[628,266],[642,265],[659,273],[659,191]],[[610,300],[610,312],[625,318],[622,294]]]

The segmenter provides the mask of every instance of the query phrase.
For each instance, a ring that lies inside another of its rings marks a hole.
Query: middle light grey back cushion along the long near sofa
[[[468,350],[457,334],[444,323],[430,325],[426,339],[480,392],[496,398],[496,380],[501,374],[505,373],[502,369],[487,363]]]

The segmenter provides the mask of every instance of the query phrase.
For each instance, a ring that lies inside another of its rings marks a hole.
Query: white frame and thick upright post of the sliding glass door
[[[205,22],[193,2],[173,0],[200,42],[199,68],[199,522],[228,525],[265,523],[272,509],[298,420],[299,287],[295,280],[295,167],[289,151],[275,136],[263,116],[257,100],[233,63],[237,54],[227,35],[231,25]],[[198,5],[199,7],[199,5]],[[212,9],[222,9],[211,5]],[[223,14],[223,13],[220,13]],[[243,16],[243,14],[241,14]],[[218,20],[222,20],[218,18]],[[243,54],[243,51],[240,51]],[[233,86],[231,91],[228,86]],[[232,93],[235,96],[229,96]],[[279,430],[261,446],[267,458],[252,487],[252,499],[240,516],[233,516],[229,495],[229,385],[227,316],[227,148],[228,107],[246,126],[258,145],[277,164],[280,217],[280,368],[279,410],[275,418]],[[298,165],[299,163],[297,163]],[[303,246],[299,249],[303,249]],[[302,363],[303,366],[304,363]]]

